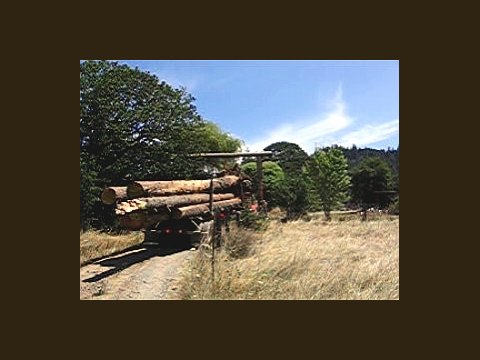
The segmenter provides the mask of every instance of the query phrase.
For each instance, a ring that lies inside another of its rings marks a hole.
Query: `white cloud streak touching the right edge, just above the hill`
[[[366,146],[388,139],[398,133],[399,121],[393,120],[380,125],[366,125],[359,130],[349,132],[335,143],[342,146]]]

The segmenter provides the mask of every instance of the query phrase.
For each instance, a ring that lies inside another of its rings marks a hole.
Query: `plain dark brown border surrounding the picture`
[[[17,351],[67,347],[65,355],[88,358],[453,351],[446,334],[460,328],[471,290],[461,288],[462,274],[454,270],[464,266],[465,244],[476,237],[462,226],[469,215],[456,219],[452,211],[473,185],[452,189],[463,166],[459,154],[472,144],[456,130],[466,116],[450,96],[467,93],[457,80],[472,66],[469,12],[436,6],[400,13],[396,3],[371,9],[220,3],[215,12],[203,3],[159,4],[156,10],[139,3],[104,11],[98,3],[68,11],[30,7],[26,31],[7,39],[12,52],[3,70],[13,81],[4,84],[10,112],[2,119],[2,173],[14,216],[3,221],[12,241],[5,235],[2,293],[15,305],[11,336],[32,339]],[[77,66],[80,59],[105,58],[400,60],[400,301],[80,301]],[[11,176],[19,171],[17,182]],[[35,204],[18,197],[31,192],[41,194]]]

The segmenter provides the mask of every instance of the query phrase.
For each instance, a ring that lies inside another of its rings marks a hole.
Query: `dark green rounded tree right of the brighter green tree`
[[[365,158],[352,171],[352,199],[364,208],[385,208],[392,188],[392,170],[380,157]]]

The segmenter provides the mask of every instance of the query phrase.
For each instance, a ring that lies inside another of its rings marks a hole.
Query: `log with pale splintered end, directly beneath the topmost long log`
[[[235,197],[234,194],[213,194],[213,201],[229,200]],[[163,210],[165,207],[194,205],[208,202],[210,194],[188,194],[173,195],[152,198],[139,198],[127,200],[117,205],[117,215],[130,213],[138,210]]]

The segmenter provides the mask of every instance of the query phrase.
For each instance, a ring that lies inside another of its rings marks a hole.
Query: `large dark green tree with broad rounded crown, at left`
[[[80,150],[98,178],[186,176],[191,129],[202,125],[193,98],[149,73],[115,62],[80,64]]]

